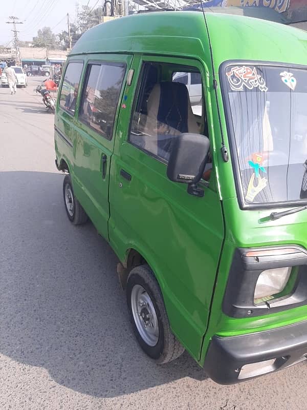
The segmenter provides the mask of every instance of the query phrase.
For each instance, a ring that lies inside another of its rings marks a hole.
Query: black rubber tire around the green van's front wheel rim
[[[159,336],[154,346],[149,345],[143,339],[134,319],[133,308],[131,306],[131,293],[136,285],[141,285],[144,288],[156,311]],[[159,364],[170,362],[181,356],[185,349],[170,330],[159,284],[147,264],[140,265],[129,273],[126,286],[126,298],[134,333],[142,350]]]

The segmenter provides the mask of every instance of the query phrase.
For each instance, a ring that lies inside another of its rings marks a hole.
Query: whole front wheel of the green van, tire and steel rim
[[[170,330],[159,284],[147,264],[131,270],[126,297],[133,329],[143,351],[160,364],[181,356],[184,347]]]

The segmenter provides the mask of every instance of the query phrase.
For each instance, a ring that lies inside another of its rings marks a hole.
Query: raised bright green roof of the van
[[[258,18],[205,12],[215,69],[225,60],[307,65],[307,32]],[[135,14],[87,30],[70,55],[143,53],[201,58],[211,65],[201,11]]]

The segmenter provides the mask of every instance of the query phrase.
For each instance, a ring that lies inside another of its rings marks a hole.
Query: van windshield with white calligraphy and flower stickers
[[[235,64],[224,76],[238,194],[247,204],[306,200],[307,70]]]

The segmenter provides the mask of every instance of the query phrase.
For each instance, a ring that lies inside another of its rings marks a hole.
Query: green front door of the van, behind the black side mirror
[[[205,72],[198,61],[167,57],[135,59],[133,68],[111,163],[109,237],[121,260],[135,249],[150,265],[173,333],[198,360],[224,236],[221,202],[214,168],[200,198],[171,182],[166,167],[172,138],[208,135],[208,107],[196,117],[174,73]]]

